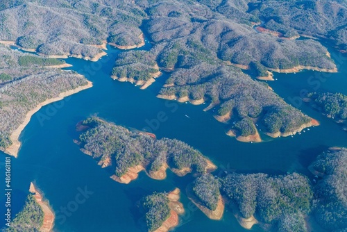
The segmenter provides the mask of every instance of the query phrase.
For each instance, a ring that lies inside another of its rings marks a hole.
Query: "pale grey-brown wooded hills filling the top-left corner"
[[[145,13],[127,1],[21,1],[0,11],[0,40],[45,55],[95,57],[92,44],[139,44]]]

